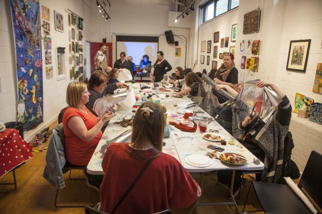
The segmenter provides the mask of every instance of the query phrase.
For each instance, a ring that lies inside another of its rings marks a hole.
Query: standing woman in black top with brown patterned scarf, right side
[[[216,72],[213,81],[216,84],[228,85],[234,88],[238,83],[238,71],[235,68],[234,55],[232,53],[225,53],[223,62],[223,65]],[[219,103],[227,101],[226,97],[222,96],[215,90],[213,90],[213,94],[217,96]]]

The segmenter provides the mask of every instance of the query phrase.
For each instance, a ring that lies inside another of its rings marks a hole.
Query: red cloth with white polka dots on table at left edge
[[[19,135],[17,129],[0,133],[0,178],[14,167],[33,157],[32,147]]]

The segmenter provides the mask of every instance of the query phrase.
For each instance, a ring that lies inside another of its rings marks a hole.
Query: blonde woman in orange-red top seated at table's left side
[[[114,115],[108,111],[102,118],[94,116],[85,106],[89,101],[89,95],[85,83],[71,82],[67,87],[68,107],[62,123],[66,159],[72,165],[88,165],[96,145],[102,137],[103,124]]]

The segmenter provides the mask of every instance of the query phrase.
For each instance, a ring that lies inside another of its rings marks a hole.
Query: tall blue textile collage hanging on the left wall
[[[43,122],[42,54],[39,1],[10,0],[18,79],[17,120],[28,131]],[[43,10],[43,8],[42,8]],[[44,9],[44,11],[46,11]],[[48,12],[48,13],[47,13]],[[49,10],[44,16],[49,20]],[[42,13],[43,14],[43,13]]]

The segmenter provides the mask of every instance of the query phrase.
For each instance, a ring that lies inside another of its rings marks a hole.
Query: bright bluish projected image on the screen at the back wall
[[[157,60],[158,43],[154,42],[119,42],[117,41],[117,59],[119,53],[124,51],[127,56],[133,57],[135,65],[140,65],[143,55],[148,55],[152,65]]]

